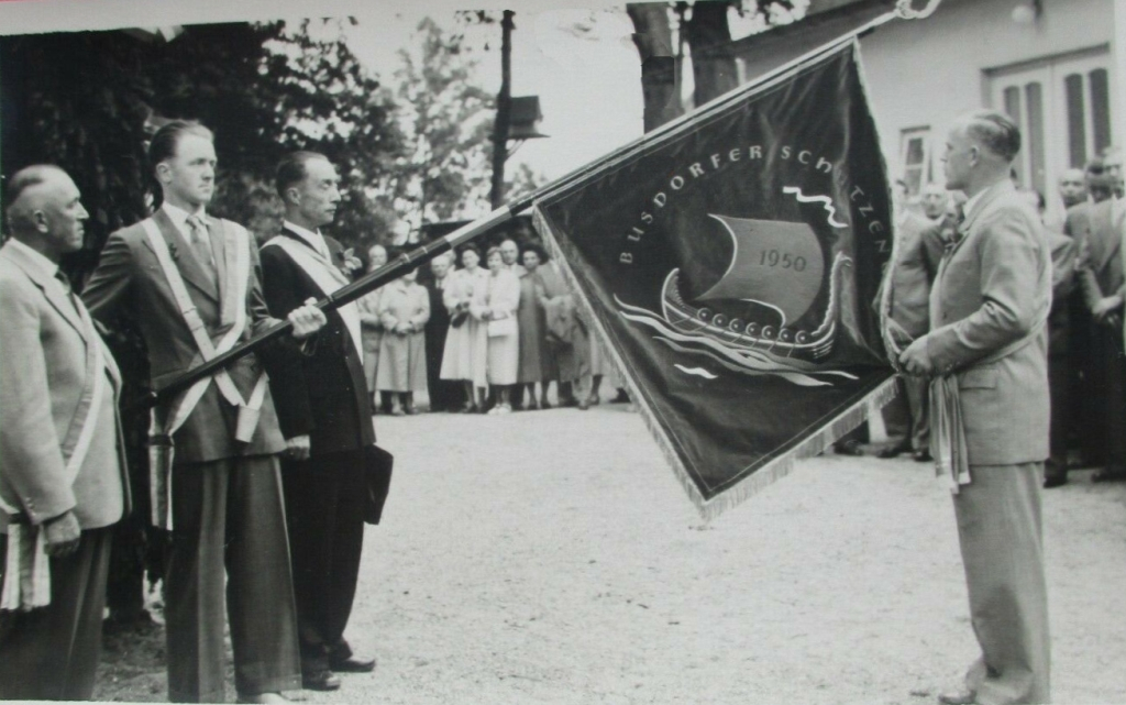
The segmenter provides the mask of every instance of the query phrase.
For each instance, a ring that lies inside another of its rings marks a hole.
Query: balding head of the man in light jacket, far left
[[[51,164],[35,164],[12,176],[5,194],[8,226],[14,238],[57,261],[82,248],[82,207],[78,186]]]

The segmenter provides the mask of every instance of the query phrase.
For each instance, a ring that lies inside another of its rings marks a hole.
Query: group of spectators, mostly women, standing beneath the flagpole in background
[[[367,252],[368,271],[387,248]],[[489,413],[588,409],[602,378],[628,401],[609,355],[592,334],[563,276],[542,244],[504,239],[432,259],[358,302],[364,367],[376,412]],[[551,399],[555,387],[554,403]]]

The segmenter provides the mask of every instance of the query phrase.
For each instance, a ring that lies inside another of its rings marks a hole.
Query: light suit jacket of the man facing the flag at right
[[[995,362],[991,356],[1043,323],[1052,296],[1047,237],[1004,180],[982,194],[939,266],[927,350],[954,374],[971,465],[1040,462],[1048,455],[1047,330]]]

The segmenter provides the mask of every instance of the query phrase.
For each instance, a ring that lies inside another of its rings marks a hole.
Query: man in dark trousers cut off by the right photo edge
[[[1117,187],[1120,162],[1103,157],[1103,177]],[[1112,191],[1114,193],[1114,191]],[[1096,413],[1090,421],[1105,448],[1103,468],[1093,480],[1126,479],[1126,358],[1123,350],[1121,231],[1126,200],[1111,196],[1092,204],[1087,214],[1087,237],[1080,243],[1078,278],[1091,321],[1088,386]]]

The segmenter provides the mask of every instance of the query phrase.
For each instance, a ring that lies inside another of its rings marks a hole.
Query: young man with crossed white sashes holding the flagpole
[[[172,122],[149,148],[163,204],[109,237],[84,298],[107,325],[126,316],[148,348],[159,387],[277,320],[259,284],[253,239],[211,217],[212,133]],[[300,687],[296,617],[263,365],[324,324],[312,306],[291,314],[293,337],[232,363],[153,412],[153,521],[169,530],[164,575],[168,689],[177,702],[223,702],[224,592],[242,702],[276,702]],[[315,345],[315,341],[312,341]],[[225,574],[224,574],[225,569]]]

